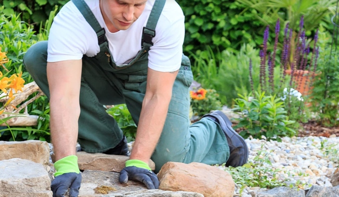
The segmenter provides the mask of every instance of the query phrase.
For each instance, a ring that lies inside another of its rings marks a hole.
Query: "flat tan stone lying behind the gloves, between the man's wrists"
[[[76,152],[76,156],[80,170],[120,172],[125,167],[125,162],[129,160],[127,156],[102,153]],[[152,170],[155,169],[153,161],[150,160],[149,165]]]

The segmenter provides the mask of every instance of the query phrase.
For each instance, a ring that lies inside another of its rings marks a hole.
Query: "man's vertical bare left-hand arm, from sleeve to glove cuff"
[[[47,63],[50,130],[56,161],[75,155],[80,115],[81,60]]]

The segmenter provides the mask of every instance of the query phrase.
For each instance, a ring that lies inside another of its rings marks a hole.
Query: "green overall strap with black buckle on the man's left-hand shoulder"
[[[107,38],[105,36],[105,29],[100,26],[93,12],[91,11],[91,9],[88,7],[87,3],[84,0],[72,0],[72,2],[75,4],[77,9],[81,12],[83,17],[86,19],[87,23],[93,28],[95,33],[97,33],[98,44],[101,48],[102,44],[107,43]]]

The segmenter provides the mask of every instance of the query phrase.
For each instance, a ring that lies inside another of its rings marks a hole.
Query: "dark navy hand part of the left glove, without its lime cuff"
[[[51,184],[53,197],[65,197],[70,188],[70,197],[77,197],[81,184],[81,173],[69,172],[57,176]]]

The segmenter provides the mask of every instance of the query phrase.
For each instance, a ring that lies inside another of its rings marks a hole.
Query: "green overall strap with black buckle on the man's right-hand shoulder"
[[[155,27],[158,23],[165,2],[166,0],[155,0],[146,27],[143,28],[143,36],[141,39],[142,48],[144,46],[153,46],[152,38],[155,36]]]

